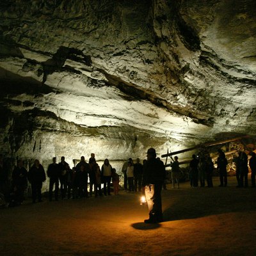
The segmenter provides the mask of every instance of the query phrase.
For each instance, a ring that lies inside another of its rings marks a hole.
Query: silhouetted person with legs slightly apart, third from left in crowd
[[[48,166],[47,176],[50,178],[49,200],[52,201],[52,189],[54,186],[55,201],[58,201],[60,166],[56,163],[56,157],[52,158],[52,163]]]

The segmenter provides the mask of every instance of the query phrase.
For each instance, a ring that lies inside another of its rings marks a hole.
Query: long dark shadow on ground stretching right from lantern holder
[[[236,187],[170,190],[163,195],[164,222],[255,211],[255,191]]]

